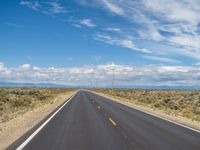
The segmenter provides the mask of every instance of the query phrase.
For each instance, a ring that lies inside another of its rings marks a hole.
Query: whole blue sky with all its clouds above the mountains
[[[198,0],[12,0],[0,5],[0,80],[198,85]]]

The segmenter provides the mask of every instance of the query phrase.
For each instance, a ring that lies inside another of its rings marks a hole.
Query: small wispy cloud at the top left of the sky
[[[39,2],[39,1],[21,1],[21,5],[40,11],[45,14],[61,14],[66,13],[67,9],[59,2]]]

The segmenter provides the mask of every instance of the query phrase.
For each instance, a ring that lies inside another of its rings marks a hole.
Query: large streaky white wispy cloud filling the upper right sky
[[[134,30],[134,35],[137,34],[137,38],[141,39],[137,42],[153,41],[155,46],[156,42],[172,46],[176,51],[171,53],[199,59],[197,55],[200,49],[200,1],[96,0],[95,2],[96,7],[103,6],[108,13],[123,17],[132,23],[133,27],[130,26],[126,30],[130,33]],[[164,51],[160,49],[160,52]]]

